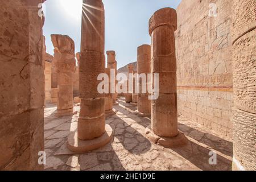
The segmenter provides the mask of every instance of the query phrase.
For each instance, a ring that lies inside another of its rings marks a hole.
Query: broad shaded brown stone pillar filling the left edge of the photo
[[[43,1],[0,1],[0,170],[40,170],[44,151]]]

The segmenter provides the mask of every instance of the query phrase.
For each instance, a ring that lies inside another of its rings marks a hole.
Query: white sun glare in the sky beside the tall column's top
[[[82,0],[61,0],[60,2],[65,14],[72,16],[74,19],[81,18]]]

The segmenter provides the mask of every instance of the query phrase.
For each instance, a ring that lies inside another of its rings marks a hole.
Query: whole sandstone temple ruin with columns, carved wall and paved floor
[[[151,44],[119,69],[119,52],[105,51],[104,3],[83,2],[79,52],[52,34],[53,55],[44,0],[0,2],[0,170],[255,171],[255,0],[155,11]]]

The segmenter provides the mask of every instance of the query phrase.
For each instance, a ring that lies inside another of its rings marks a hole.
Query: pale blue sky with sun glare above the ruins
[[[148,19],[163,7],[176,9],[181,0],[103,0],[105,6],[105,51],[114,50],[118,68],[137,60],[137,47],[150,44]],[[53,55],[51,34],[64,34],[80,51],[82,0],[47,0],[47,52]]]

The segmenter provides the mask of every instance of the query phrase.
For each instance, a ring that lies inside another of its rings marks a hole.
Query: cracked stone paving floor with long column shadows
[[[57,117],[56,105],[44,110],[44,139],[47,153],[46,170],[230,170],[233,143],[212,134],[188,118],[179,116],[179,130],[189,142],[183,147],[164,148],[144,137],[150,118],[139,117],[136,107],[119,98],[117,112],[106,118],[114,129],[113,142],[85,154],[73,154],[66,147],[70,131],[77,130],[76,115]],[[217,164],[209,164],[209,152],[217,154]]]

